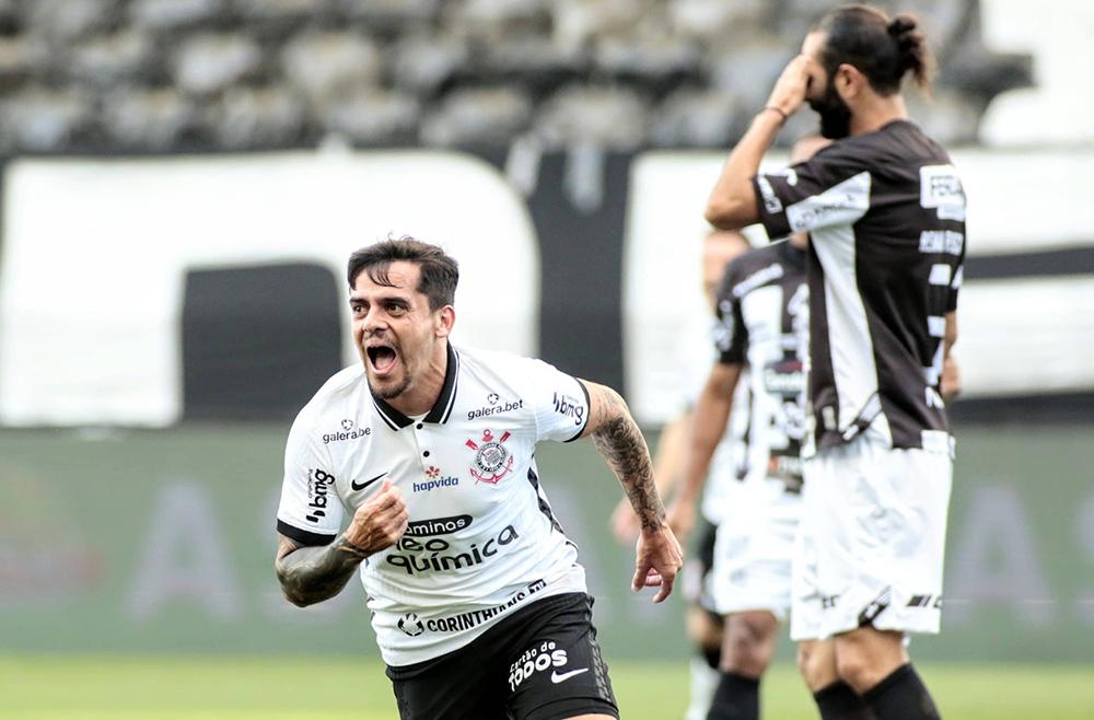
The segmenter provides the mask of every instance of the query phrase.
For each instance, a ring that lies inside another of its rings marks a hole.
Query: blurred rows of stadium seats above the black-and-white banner
[[[882,3],[893,4],[893,3]],[[0,1],[0,152],[595,144],[722,148],[821,0]],[[977,138],[1032,80],[979,3],[913,0],[943,72],[929,132]],[[804,121],[804,120],[803,120]],[[784,138],[793,137],[784,133]]]

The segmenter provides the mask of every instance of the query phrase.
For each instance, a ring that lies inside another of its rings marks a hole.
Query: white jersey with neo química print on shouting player
[[[584,386],[539,360],[450,345],[420,418],[373,397],[363,367],[347,368],[289,433],[278,532],[328,544],[389,479],[409,527],[361,564],[381,653],[398,666],[451,652],[532,600],[585,591],[535,449],[577,439],[587,419]]]

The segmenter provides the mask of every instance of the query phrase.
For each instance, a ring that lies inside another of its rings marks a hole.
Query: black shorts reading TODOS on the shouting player
[[[401,720],[619,717],[585,593],[536,601],[467,646],[387,676]]]

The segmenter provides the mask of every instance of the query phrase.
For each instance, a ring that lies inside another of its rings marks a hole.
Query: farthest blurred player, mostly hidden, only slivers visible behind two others
[[[715,293],[725,275],[725,268],[735,257],[750,248],[748,240],[736,231],[715,230],[709,233],[702,244],[702,292],[710,316],[688,318],[687,333],[682,346],[680,363],[687,368],[687,378],[693,387],[688,391],[685,407],[671,422],[666,423],[657,441],[653,456],[654,478],[662,497],[667,497],[676,487],[684,472],[686,444],[693,432],[693,408],[702,390],[699,384],[706,379],[712,356],[710,338],[720,336],[721,323],[713,316]],[[717,356],[713,356],[717,359]],[[746,407],[748,388],[741,386],[742,398],[738,407]],[[737,490],[736,481],[743,474],[744,457],[742,438],[748,427],[746,411],[735,414],[728,425],[718,449],[711,460],[711,469],[703,485],[701,516],[695,533],[695,543],[688,555],[683,574],[683,591],[688,600],[687,635],[695,643],[698,657],[691,659],[691,693],[686,720],[702,720],[707,717],[710,699],[718,685],[718,664],[722,652],[722,616],[714,607],[710,593],[709,573],[714,553],[714,535],[721,522],[722,509],[732,504],[729,496]],[[612,532],[624,544],[632,545],[638,539],[639,524],[630,503],[624,498],[612,514]]]

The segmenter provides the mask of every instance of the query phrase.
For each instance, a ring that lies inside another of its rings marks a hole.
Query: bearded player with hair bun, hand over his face
[[[940,623],[953,451],[940,381],[956,339],[965,194],[945,150],[907,119],[909,71],[929,83],[915,19],[865,5],[829,12],[730,153],[707,207],[718,227],[810,233],[802,536],[812,546],[795,556],[794,583],[808,576],[816,593],[800,605],[795,590],[791,632],[835,638],[829,658],[803,658],[824,720],[940,717],[904,639]],[[805,102],[835,142],[759,174]]]

